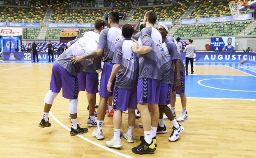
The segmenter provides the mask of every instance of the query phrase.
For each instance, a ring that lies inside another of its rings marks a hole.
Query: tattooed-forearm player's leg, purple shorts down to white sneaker
[[[111,90],[112,93],[107,90],[107,83],[112,71],[113,65],[105,62],[102,72],[101,72],[101,82],[99,85],[99,108],[98,108],[98,121],[97,128],[92,132],[92,136],[97,138],[98,140],[102,140],[104,138],[102,127],[104,124],[104,118],[106,115],[106,103],[108,101],[108,97],[113,95],[113,87],[115,85],[115,80],[112,82]]]

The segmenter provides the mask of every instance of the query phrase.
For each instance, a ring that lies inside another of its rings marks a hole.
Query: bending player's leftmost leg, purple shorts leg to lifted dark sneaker
[[[53,64],[52,74],[51,74],[51,83],[50,83],[50,90],[47,92],[44,98],[44,112],[43,112],[43,119],[41,120],[39,127],[50,127],[51,123],[49,123],[48,114],[51,110],[51,106],[55,97],[60,92],[62,87],[62,80],[60,76],[60,69]]]

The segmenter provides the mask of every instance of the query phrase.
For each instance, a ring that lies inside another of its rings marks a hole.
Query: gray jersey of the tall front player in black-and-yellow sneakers
[[[154,27],[141,30],[141,46],[150,46],[150,52],[139,55],[139,78],[161,80],[161,47],[162,36]]]

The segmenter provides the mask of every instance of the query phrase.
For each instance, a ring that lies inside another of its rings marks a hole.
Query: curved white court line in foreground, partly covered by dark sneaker
[[[49,112],[49,115],[50,115],[58,124],[60,124],[60,126],[62,126],[63,128],[65,128],[67,131],[70,131],[70,128],[68,128],[67,126],[65,126],[64,124],[62,124],[51,112]],[[76,135],[76,136],[77,136],[77,137],[80,137],[81,139],[85,140],[86,142],[89,142],[89,143],[91,143],[91,144],[94,144],[94,145],[96,145],[97,147],[100,147],[100,148],[102,148],[102,149],[105,149],[105,150],[107,150],[107,151],[110,151],[110,152],[112,152],[112,153],[115,153],[115,154],[117,154],[117,155],[119,155],[119,156],[122,156],[122,157],[125,157],[125,158],[133,158],[133,157],[131,157],[131,156],[125,155],[124,153],[120,153],[120,152],[118,152],[118,151],[115,151],[115,150],[112,150],[112,149],[110,149],[110,148],[108,148],[108,147],[105,147],[105,146],[103,146],[103,145],[101,145],[101,144],[98,144],[98,143],[96,143],[96,142],[94,142],[94,141],[92,141],[92,140],[89,140],[88,138],[83,137],[82,135]]]

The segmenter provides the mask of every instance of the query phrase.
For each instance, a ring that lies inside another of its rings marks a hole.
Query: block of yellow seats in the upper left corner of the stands
[[[39,23],[44,18],[44,13],[45,10],[40,7],[0,7],[0,21]]]

